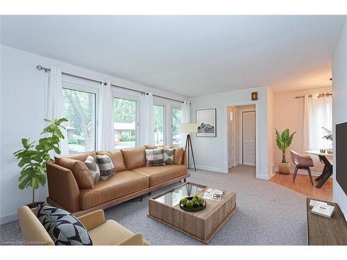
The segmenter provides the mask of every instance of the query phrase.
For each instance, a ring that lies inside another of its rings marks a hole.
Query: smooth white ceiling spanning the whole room
[[[1,43],[183,96],[330,85],[346,16],[3,16]],[[44,64],[43,64],[44,65]]]

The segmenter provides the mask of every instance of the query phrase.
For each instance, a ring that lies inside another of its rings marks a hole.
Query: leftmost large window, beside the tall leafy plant
[[[63,89],[69,153],[95,150],[95,94]]]

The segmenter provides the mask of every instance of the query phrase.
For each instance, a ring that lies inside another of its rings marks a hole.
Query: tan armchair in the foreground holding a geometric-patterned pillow
[[[54,245],[51,236],[27,206],[18,209],[22,239],[26,245]],[[93,245],[149,245],[142,234],[134,234],[115,220],[105,220],[103,210],[78,217],[85,226]]]

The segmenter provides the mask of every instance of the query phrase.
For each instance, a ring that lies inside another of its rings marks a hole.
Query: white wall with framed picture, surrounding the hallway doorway
[[[258,171],[257,177],[268,179],[268,125],[267,125],[267,87],[256,87],[253,89],[242,89],[232,92],[223,92],[207,96],[192,98],[192,122],[195,122],[196,110],[217,108],[217,137],[196,137],[192,135],[194,156],[198,168],[208,171],[228,173],[228,156],[226,138],[227,106],[246,105],[251,102],[251,92],[258,92],[257,104],[257,126],[259,130],[258,139]]]

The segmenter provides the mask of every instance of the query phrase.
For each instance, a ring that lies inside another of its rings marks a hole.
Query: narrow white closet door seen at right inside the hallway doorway
[[[242,164],[255,166],[255,111],[242,112]]]

